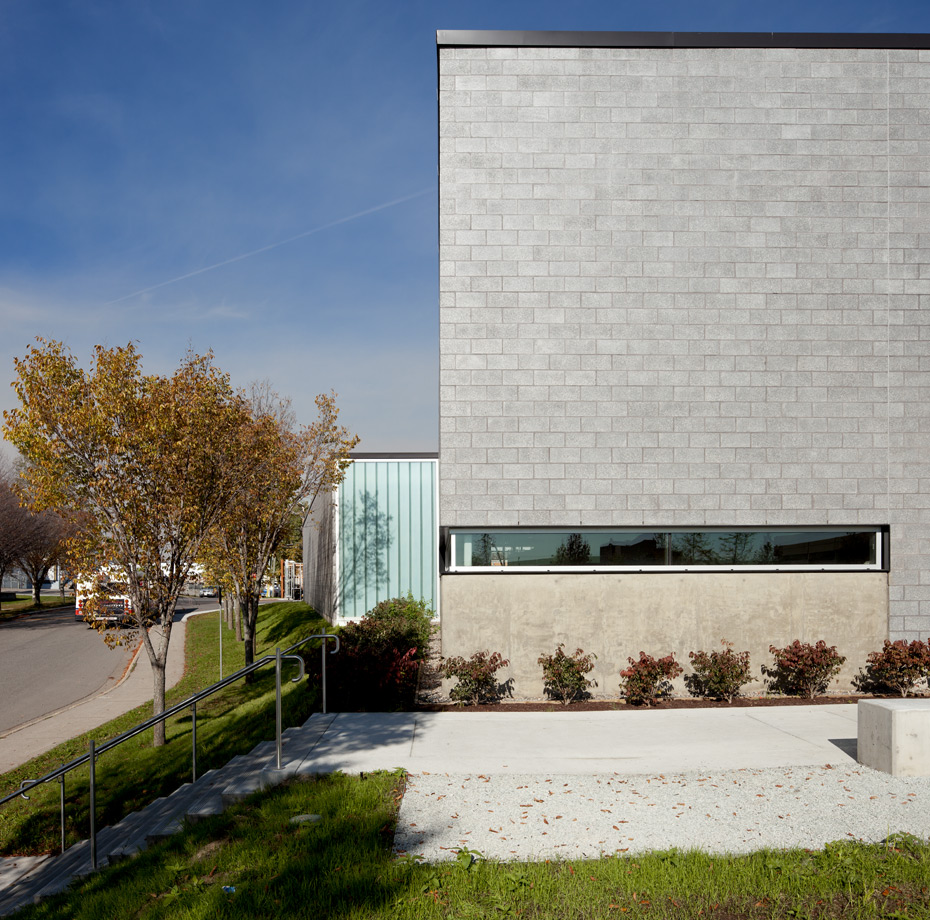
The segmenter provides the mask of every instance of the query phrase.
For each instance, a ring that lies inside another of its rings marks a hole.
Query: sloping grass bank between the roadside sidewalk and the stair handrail
[[[219,679],[218,614],[192,617],[187,622],[186,673],[168,692],[168,705],[178,703]],[[305,604],[283,602],[261,608],[258,623],[260,657],[275,646],[288,645],[318,632],[325,625]],[[143,653],[144,654],[144,653]],[[244,650],[230,630],[223,642],[223,671],[241,668]],[[140,662],[140,667],[148,667]],[[285,666],[288,667],[287,665]],[[293,665],[289,666],[293,668]],[[205,773],[250,751],[260,741],[274,738],[274,667],[262,668],[253,684],[237,683],[197,704],[197,770]],[[283,679],[291,676],[285,670]],[[306,682],[283,684],[285,727],[299,724],[313,711],[316,694]],[[99,745],[144,721],[151,703],[0,776],[0,796],[19,788],[21,780],[35,779],[87,752],[90,738]],[[97,827],[115,824],[191,778],[191,717],[187,710],[167,723],[168,744],[152,747],[151,731],[108,751],[97,762]],[[88,770],[80,767],[66,778],[66,839],[86,838],[89,828]],[[16,799],[0,805],[0,855],[54,852],[60,846],[58,783],[47,783],[29,793],[30,801]]]

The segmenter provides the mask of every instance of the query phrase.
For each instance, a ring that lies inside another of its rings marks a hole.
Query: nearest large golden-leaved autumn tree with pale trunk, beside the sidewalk
[[[85,371],[62,343],[40,338],[16,359],[16,373],[20,407],[4,412],[3,428],[26,461],[32,501],[39,510],[85,510],[69,541],[72,565],[85,576],[118,573],[131,623],[118,633],[102,619],[94,625],[110,644],[141,635],[157,715],[178,596],[205,534],[254,463],[239,450],[248,407],[211,354],[189,352],[174,374],[160,376],[143,374],[132,343],[98,345]],[[164,742],[161,722],[155,745]]]

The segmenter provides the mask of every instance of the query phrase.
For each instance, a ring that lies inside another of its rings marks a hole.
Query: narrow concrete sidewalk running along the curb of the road
[[[165,674],[165,689],[184,676],[184,638],[186,614],[171,628],[171,644]],[[214,611],[215,612],[215,611]],[[12,729],[0,738],[0,773],[13,770],[71,738],[104,725],[111,719],[152,700],[152,668],[145,649],[140,646],[123,679],[115,686],[86,700],[73,703]],[[101,741],[106,740],[101,738]]]

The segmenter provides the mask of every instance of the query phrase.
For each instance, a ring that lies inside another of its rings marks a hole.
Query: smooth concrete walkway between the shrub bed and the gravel
[[[318,772],[654,773],[856,762],[856,706],[340,713]]]

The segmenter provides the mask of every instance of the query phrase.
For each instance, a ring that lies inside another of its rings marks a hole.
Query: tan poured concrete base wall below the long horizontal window
[[[669,652],[688,668],[688,652],[732,642],[748,649],[747,693],[764,690],[769,646],[826,640],[847,658],[832,690],[848,690],[869,652],[888,638],[888,576],[855,573],[662,573],[445,575],[441,579],[442,653],[481,649],[510,659],[514,697],[543,694],[536,659],[559,642],[597,656],[595,696],[617,697],[619,673],[640,651]],[[676,692],[685,693],[679,680]]]

